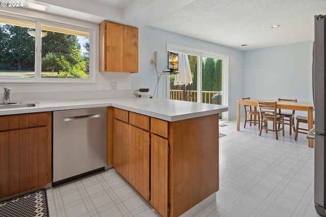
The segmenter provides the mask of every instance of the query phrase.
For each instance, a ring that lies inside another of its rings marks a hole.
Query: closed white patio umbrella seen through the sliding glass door
[[[188,55],[179,53],[179,74],[175,75],[174,85],[188,85],[193,83],[192,72],[189,65]]]

